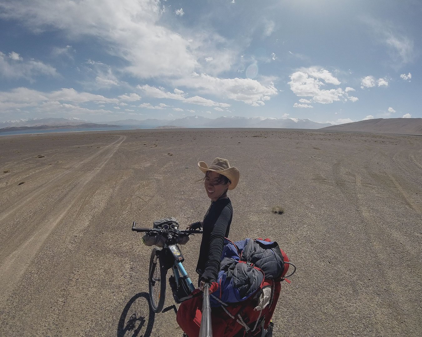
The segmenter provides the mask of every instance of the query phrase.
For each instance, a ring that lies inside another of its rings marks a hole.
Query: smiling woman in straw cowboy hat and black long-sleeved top
[[[213,283],[220,270],[224,238],[229,236],[233,218],[227,190],[233,190],[238,184],[239,170],[223,158],[215,158],[210,166],[200,161],[198,166],[205,173],[204,187],[211,205],[204,219],[189,225],[188,229],[203,229],[196,272],[199,274],[199,288],[202,290],[205,283],[210,283],[212,292],[216,290],[217,285]]]

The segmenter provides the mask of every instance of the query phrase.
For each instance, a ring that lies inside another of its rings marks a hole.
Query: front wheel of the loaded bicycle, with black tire
[[[156,256],[157,248],[153,248],[151,252],[151,259],[149,260],[149,302],[154,313],[161,312],[164,307],[165,300],[165,285],[167,270],[160,267],[159,258]]]

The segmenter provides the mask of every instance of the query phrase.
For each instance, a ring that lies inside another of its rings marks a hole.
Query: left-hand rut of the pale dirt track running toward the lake
[[[70,168],[70,169],[68,169],[66,171],[63,171],[62,173],[58,174],[54,179],[52,179],[52,180],[50,180],[48,182],[45,182],[45,183],[41,184],[40,186],[38,186],[35,191],[30,192],[27,195],[27,197],[26,197],[26,199],[25,199],[24,202],[18,203],[14,207],[11,206],[12,207],[11,209],[9,209],[7,212],[4,212],[0,216],[0,222],[3,222],[4,219],[6,219],[10,214],[15,213],[18,209],[21,209],[24,206],[27,206],[35,198],[38,198],[40,195],[43,195],[43,193],[46,193],[46,191],[51,190],[51,189],[53,189],[55,187],[60,186],[63,177],[68,176],[70,173],[77,171],[77,169],[79,169],[81,166],[83,166],[86,163],[89,163],[90,161],[94,160],[96,157],[98,157],[99,155],[101,155],[104,151],[108,150],[110,147],[113,147],[114,144],[119,143],[118,144],[118,146],[119,146],[120,144],[122,144],[122,142],[124,141],[124,139],[126,139],[126,136],[120,136],[120,138],[117,139],[115,142],[107,145],[103,149],[101,149],[98,152],[96,152],[94,155],[91,155],[89,158],[76,163],[74,166],[72,166],[72,168]]]

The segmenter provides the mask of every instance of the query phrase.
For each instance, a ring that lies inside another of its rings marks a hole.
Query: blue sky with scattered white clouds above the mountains
[[[3,0],[0,120],[421,118],[419,0]]]

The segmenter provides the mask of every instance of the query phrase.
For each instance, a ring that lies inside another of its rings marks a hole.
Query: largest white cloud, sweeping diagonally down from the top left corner
[[[72,1],[23,0],[0,3],[0,8],[3,18],[21,20],[35,32],[54,27],[71,39],[94,37],[112,56],[129,64],[126,71],[141,78],[190,73],[199,65],[194,52],[204,48],[201,44],[192,50],[181,34],[160,25],[159,1],[103,1],[100,5],[82,1],[75,5]]]

